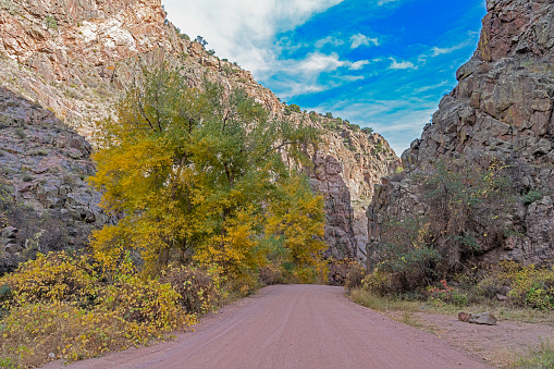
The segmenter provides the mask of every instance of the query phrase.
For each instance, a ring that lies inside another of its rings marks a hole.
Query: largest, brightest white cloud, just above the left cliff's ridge
[[[221,58],[237,61],[257,78],[274,67],[272,37],[304,24],[344,0],[162,0],[172,23],[201,35]]]

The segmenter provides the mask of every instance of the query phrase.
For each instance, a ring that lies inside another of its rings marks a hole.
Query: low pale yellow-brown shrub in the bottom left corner
[[[17,307],[2,324],[0,356],[15,367],[36,367],[49,359],[73,361],[134,343],[127,337],[124,320],[66,303]]]

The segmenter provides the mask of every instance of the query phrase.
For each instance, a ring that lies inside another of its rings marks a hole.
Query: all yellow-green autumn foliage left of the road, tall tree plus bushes
[[[90,253],[39,254],[0,279],[0,367],[163,339],[259,287],[260,270],[325,274],[323,199],[301,173],[316,130],[242,90],[187,87],[165,65],[145,67],[115,112],[99,124],[89,183],[119,221]]]

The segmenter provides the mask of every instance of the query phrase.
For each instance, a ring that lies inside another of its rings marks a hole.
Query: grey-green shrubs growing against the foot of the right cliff
[[[368,288],[398,293],[424,287],[466,270],[472,256],[497,247],[514,196],[504,171],[497,163],[481,169],[442,160],[420,171],[414,181],[423,209],[385,224]]]

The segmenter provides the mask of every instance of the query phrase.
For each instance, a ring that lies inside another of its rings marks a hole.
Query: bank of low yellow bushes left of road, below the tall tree
[[[128,255],[108,270],[85,256],[39,254],[0,279],[0,357],[30,367],[163,339],[196,321],[181,297],[171,284],[141,276]]]

